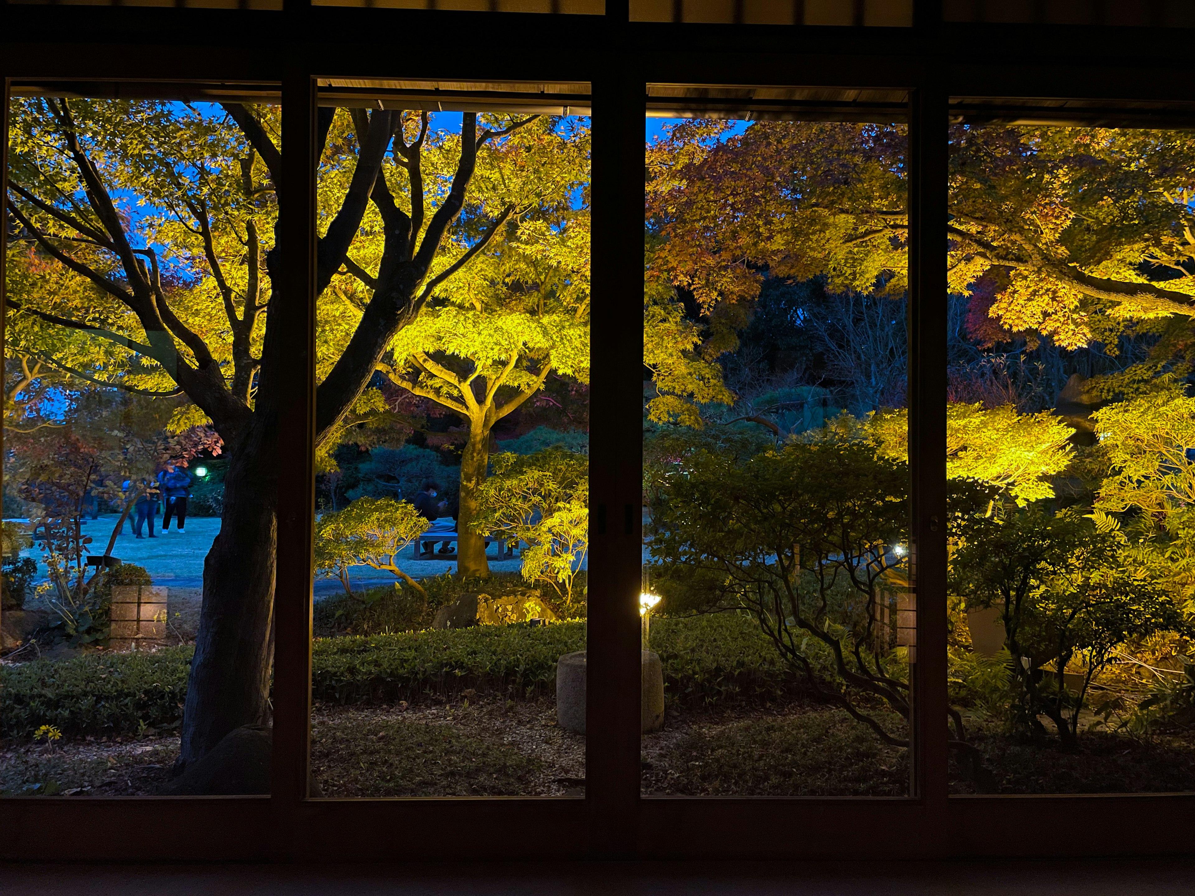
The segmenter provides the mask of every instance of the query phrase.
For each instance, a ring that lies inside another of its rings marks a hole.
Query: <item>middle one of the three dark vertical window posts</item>
[[[587,800],[590,852],[635,851],[643,492],[643,117],[611,56],[593,85]]]

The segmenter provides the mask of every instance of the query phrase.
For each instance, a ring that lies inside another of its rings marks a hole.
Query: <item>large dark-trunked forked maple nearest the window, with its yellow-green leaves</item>
[[[32,288],[7,299],[12,350],[99,385],[185,394],[172,425],[210,422],[228,454],[184,708],[185,767],[269,713],[289,350],[277,331],[306,313],[302,296],[275,289],[281,110],[37,98],[13,103],[11,121],[14,277],[33,248],[84,284],[55,291],[42,287],[57,275],[30,274]],[[511,220],[494,166],[528,121],[465,112],[459,133],[429,134],[427,116],[319,110],[315,287],[338,275],[369,283],[356,314],[319,321],[319,452],[358,415],[381,411],[368,387],[394,336]],[[361,234],[373,254],[350,258]]]

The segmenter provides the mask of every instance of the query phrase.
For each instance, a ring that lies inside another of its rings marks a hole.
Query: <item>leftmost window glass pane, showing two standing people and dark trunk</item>
[[[7,110],[0,790],[266,793],[277,94],[78,90]]]

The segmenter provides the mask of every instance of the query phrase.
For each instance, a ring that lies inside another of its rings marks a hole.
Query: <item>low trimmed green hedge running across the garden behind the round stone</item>
[[[584,645],[580,621],[318,638],[312,693],[335,704],[453,699],[471,688],[528,699],[552,694],[556,661]],[[668,699],[686,706],[774,700],[799,688],[747,616],[652,620],[651,646]],[[0,736],[29,737],[47,724],[66,737],[177,725],[191,652],[165,648],[2,667]]]

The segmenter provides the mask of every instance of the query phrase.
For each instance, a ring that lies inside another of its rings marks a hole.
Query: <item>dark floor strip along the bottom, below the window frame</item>
[[[5,865],[0,892],[37,896],[1166,896],[1195,895],[1195,859],[951,863]]]

